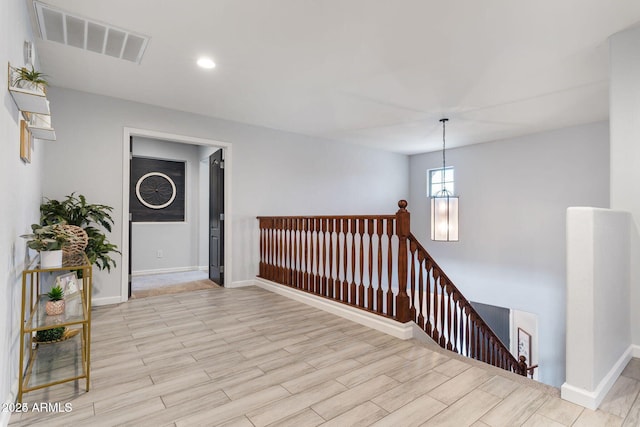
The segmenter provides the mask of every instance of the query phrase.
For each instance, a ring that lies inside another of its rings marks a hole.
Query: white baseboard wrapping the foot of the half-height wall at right
[[[576,403],[595,411],[598,409],[598,406],[600,406],[600,403],[602,403],[602,400],[607,396],[607,393],[609,393],[609,390],[611,390],[611,387],[613,387],[613,384],[616,382],[618,377],[620,377],[620,374],[624,370],[625,366],[627,366],[627,363],[629,363],[632,357],[636,357],[637,354],[640,354],[640,347],[636,345],[629,346],[627,351],[620,356],[607,375],[605,375],[602,381],[600,381],[595,390],[589,391],[564,383],[560,388],[561,397],[564,400],[568,400],[569,402]]]

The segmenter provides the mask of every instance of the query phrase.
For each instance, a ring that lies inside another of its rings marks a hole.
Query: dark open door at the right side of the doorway
[[[209,279],[224,286],[224,158],[209,156]]]

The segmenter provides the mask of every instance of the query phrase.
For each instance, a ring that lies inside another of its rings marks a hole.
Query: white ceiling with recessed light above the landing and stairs
[[[640,22],[638,0],[44,2],[151,38],[139,65],[37,40],[52,85],[409,154],[441,117],[448,147],[606,120],[608,37]]]

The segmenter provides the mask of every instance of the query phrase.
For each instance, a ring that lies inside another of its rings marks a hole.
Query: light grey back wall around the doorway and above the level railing
[[[72,191],[115,208],[110,240],[121,245],[123,128],[233,144],[233,280],[258,271],[257,215],[393,213],[407,197],[408,158],[320,138],[243,125],[130,101],[51,88],[58,141],[47,150],[44,194]],[[79,159],[74,168],[59,168]],[[229,218],[227,218],[228,220]],[[121,268],[94,276],[98,302],[120,295]]]

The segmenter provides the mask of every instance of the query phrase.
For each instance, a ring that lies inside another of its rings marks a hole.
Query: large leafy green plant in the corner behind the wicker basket
[[[112,253],[120,253],[118,246],[110,243],[102,231],[111,231],[113,208],[107,205],[87,203],[80,194],[71,193],[62,201],[46,199],[40,205],[40,222],[42,224],[66,223],[82,227],[87,233],[88,243],[85,253],[91,264],[100,270],[111,271],[116,262],[111,258]]]

